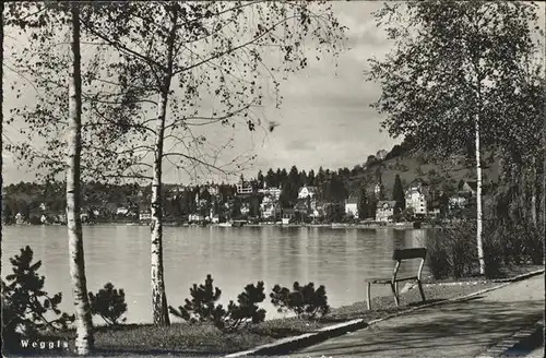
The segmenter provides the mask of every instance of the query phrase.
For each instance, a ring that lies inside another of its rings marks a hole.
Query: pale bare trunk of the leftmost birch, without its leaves
[[[69,135],[67,169],[67,228],[69,237],[70,276],[75,306],[79,355],[88,355],[93,348],[93,322],[85,279],[82,223],[80,220],[80,155],[82,151],[82,83],[80,55],[80,11],[72,4],[72,74],[69,83]]]

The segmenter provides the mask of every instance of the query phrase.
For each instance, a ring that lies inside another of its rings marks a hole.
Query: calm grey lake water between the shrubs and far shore
[[[87,288],[97,291],[107,282],[126,290],[127,322],[151,322],[150,228],[85,226]],[[41,260],[49,294],[61,291],[61,309],[72,312],[64,226],[4,226],[2,278],[11,273],[9,258],[31,246]],[[166,227],[164,260],[167,300],[182,306],[192,284],[212,274],[222,289],[222,303],[236,300],[249,283],[263,281],[268,298],[261,307],[268,319],[280,317],[269,300],[275,284],[292,287],[313,282],[324,285],[332,307],[365,300],[364,279],[392,274],[392,250],[426,244],[426,230],[298,228],[298,227]],[[401,267],[415,271],[418,260]],[[425,268],[426,270],[426,268]],[[372,295],[389,294],[373,285]],[[99,321],[97,321],[99,322]]]

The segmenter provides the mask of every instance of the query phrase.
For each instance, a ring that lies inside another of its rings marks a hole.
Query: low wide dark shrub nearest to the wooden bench
[[[313,283],[299,286],[299,283],[295,282],[292,291],[275,285],[270,298],[278,312],[292,311],[298,318],[313,319],[318,313],[324,317],[330,312],[327,289],[322,285],[314,289]]]

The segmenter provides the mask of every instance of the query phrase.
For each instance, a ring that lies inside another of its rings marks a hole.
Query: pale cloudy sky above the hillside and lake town
[[[390,150],[400,142],[380,131],[383,117],[370,107],[378,99],[380,87],[366,82],[363,73],[369,58],[381,59],[393,46],[371,16],[382,2],[336,2],[333,7],[341,24],[348,27],[346,49],[336,59],[311,61],[307,69],[282,84],[284,103],[281,109],[263,110],[268,120],[278,123],[273,132],[259,130],[250,134],[241,129],[235,133],[234,148],[226,155],[256,154],[251,166],[242,170],[247,177],[256,176],[259,169],[263,172],[269,168],[289,170],[293,165],[307,171],[317,171],[320,166],[353,168],[366,162],[368,155]],[[544,12],[544,5],[542,9]],[[4,72],[4,83],[9,83],[14,74]],[[19,100],[14,96],[5,93],[4,116],[20,100],[32,100],[32,96],[25,98],[25,94]],[[15,140],[17,126],[16,122],[4,126],[4,135]],[[223,135],[219,132],[207,134]],[[5,183],[34,180],[34,174],[17,166],[5,152],[2,174]],[[191,179],[167,165],[164,181],[189,183]]]

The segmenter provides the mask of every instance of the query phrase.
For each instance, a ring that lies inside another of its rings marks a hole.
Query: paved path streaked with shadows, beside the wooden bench
[[[544,317],[544,274],[396,317],[290,357],[476,357]]]

